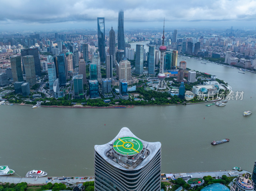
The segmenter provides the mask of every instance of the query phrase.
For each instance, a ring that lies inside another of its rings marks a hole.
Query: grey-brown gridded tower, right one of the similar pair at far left
[[[34,63],[34,56],[22,57],[26,73],[26,82],[29,83],[29,88],[36,84],[36,70]]]

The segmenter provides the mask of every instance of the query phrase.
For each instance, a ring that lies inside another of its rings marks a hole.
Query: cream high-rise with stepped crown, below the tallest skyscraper
[[[118,65],[118,78],[125,79],[127,81],[131,80],[131,62],[127,60],[124,56],[123,60],[119,62]]]

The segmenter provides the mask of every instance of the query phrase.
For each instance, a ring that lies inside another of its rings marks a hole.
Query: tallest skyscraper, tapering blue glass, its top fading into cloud
[[[118,13],[118,30],[117,30],[117,49],[124,50],[124,11]]]

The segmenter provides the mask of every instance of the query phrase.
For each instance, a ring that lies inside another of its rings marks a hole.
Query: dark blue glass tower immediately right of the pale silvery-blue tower
[[[58,70],[59,70],[59,84],[60,86],[66,86],[67,72],[66,72],[66,54],[58,55]]]

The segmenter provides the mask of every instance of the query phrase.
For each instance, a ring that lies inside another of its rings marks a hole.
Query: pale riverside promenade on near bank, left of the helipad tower
[[[87,177],[86,180],[84,180],[84,177]],[[66,178],[66,180],[59,180],[60,178]],[[94,176],[74,176],[74,179],[67,179],[68,176],[65,177],[52,177],[52,180],[48,180],[48,177],[38,177],[36,178],[28,178],[28,177],[15,177],[15,176],[0,176],[0,184],[1,183],[14,183],[18,184],[20,182],[27,182],[28,184],[47,184],[48,182],[52,182],[54,184],[55,182],[68,182],[73,184],[78,184],[81,182],[88,182],[88,181],[94,181]],[[92,179],[90,179],[92,178]]]

